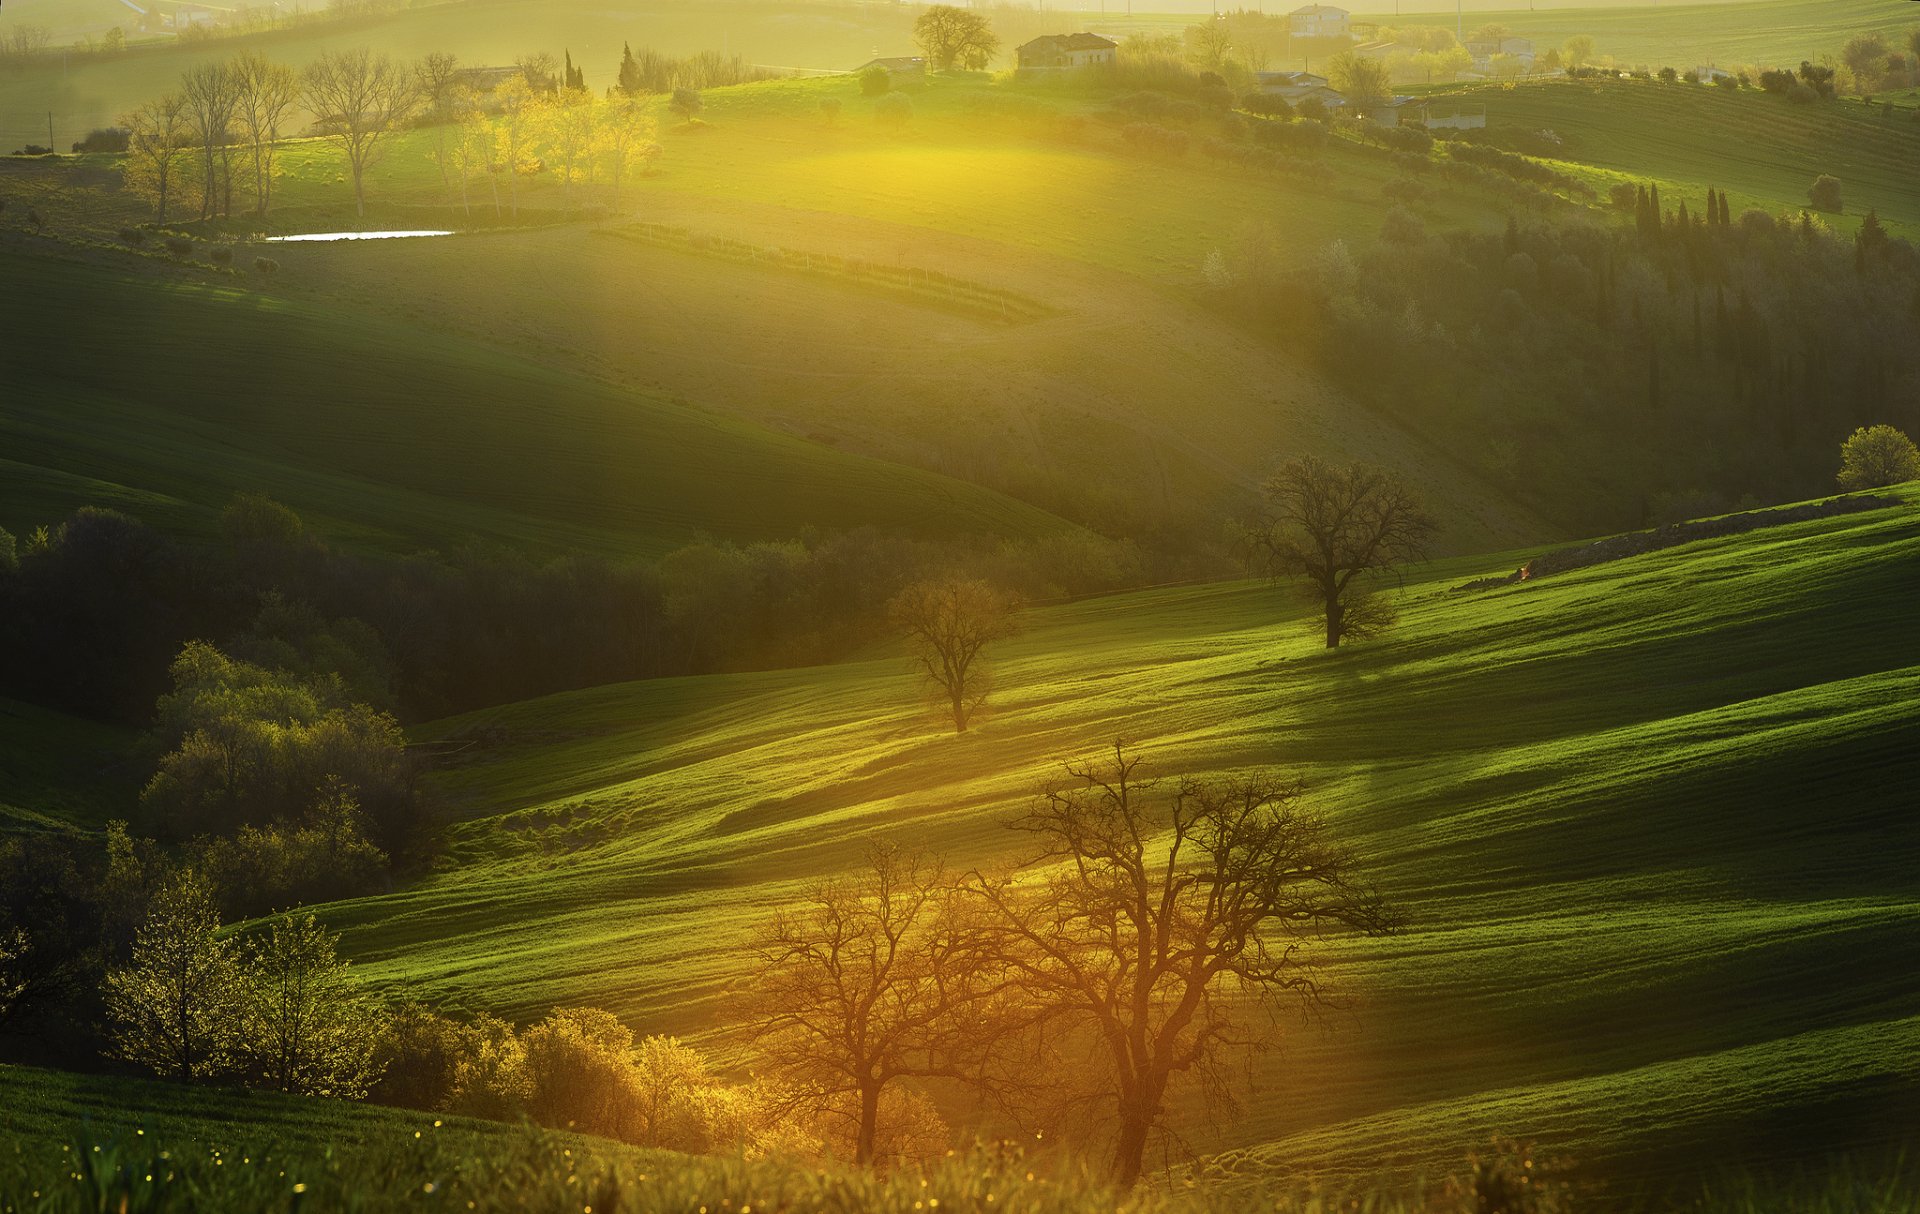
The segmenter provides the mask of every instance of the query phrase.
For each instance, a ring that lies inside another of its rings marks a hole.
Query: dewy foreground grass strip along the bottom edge
[[[816,1160],[685,1156],[605,1139],[338,1101],[0,1066],[0,1214],[1884,1214],[1920,1208],[1901,1158],[1722,1170],[1649,1189],[1571,1178],[1513,1145],[1444,1176],[1323,1183],[1152,1176],[1131,1195],[1056,1154],[1000,1143],[887,1176]],[[1526,1176],[1526,1189],[1513,1181]],[[1505,1201],[1501,1199],[1505,1195]],[[1517,1199],[1517,1201],[1515,1201]]]

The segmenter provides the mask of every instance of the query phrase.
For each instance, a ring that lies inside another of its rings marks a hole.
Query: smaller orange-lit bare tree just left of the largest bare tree
[[[816,886],[758,941],[758,1049],[814,1112],[852,1118],[856,1164],[874,1162],[897,1080],[958,1074],[947,893],[937,864],[881,843],[858,878]]]

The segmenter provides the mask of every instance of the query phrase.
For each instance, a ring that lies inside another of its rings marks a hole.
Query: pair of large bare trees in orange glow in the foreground
[[[1275,772],[1160,786],[1116,745],[1012,826],[1029,847],[1010,868],[877,847],[760,935],[758,1049],[854,1118],[860,1162],[897,1093],[962,1083],[1054,1133],[1098,1126],[1131,1185],[1175,1089],[1225,1097],[1263,1005],[1321,993],[1315,935],[1398,926]]]

